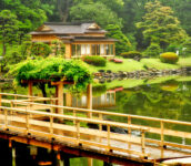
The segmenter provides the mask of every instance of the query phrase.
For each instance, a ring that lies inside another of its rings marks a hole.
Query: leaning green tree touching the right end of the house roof
[[[120,27],[115,24],[109,24],[105,30],[109,31],[107,34],[109,38],[118,40],[118,42],[115,42],[117,55],[131,50],[132,45],[129,39],[122,33]]]

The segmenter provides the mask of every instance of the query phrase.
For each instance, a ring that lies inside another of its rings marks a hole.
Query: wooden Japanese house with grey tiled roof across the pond
[[[59,40],[66,44],[66,58],[81,58],[83,55],[113,56],[115,54],[114,39],[105,37],[94,22],[60,23],[47,22],[31,32],[32,42]]]

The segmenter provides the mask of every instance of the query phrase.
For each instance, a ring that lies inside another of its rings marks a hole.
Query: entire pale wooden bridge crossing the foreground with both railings
[[[189,122],[59,106],[57,100],[0,93],[0,137],[134,163],[191,156]]]

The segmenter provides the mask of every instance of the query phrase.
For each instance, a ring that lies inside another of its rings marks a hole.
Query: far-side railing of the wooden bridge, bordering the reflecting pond
[[[40,103],[29,103],[29,102],[21,102],[21,101],[13,101],[13,103],[23,104],[23,105],[41,105],[47,106],[53,112],[53,108],[62,108],[64,113],[69,112],[73,116],[79,116],[78,113],[82,113],[89,118],[97,118],[102,121],[103,117],[122,117],[123,121],[128,125],[135,125],[140,127],[148,127],[151,134],[158,135],[160,138],[150,138],[149,136],[145,137],[145,142],[148,144],[157,144],[161,147],[178,147],[183,149],[191,149],[191,144],[184,142],[184,144],[175,143],[173,139],[179,137],[182,139],[191,141],[191,123],[190,122],[182,122],[182,121],[173,121],[173,120],[164,120],[164,118],[157,118],[157,117],[147,117],[147,116],[139,116],[139,115],[131,115],[131,114],[121,114],[121,113],[113,113],[113,112],[105,112],[105,111],[96,111],[96,110],[87,110],[87,108],[77,108],[77,107],[69,107],[69,106],[59,106],[59,105],[51,105],[51,104],[40,104]],[[135,121],[137,120],[137,121]],[[140,122],[142,124],[140,124]],[[155,125],[152,126],[150,124],[154,123]],[[173,129],[173,127],[175,129]],[[181,128],[180,128],[181,126]],[[102,125],[99,125],[100,129]],[[182,129],[183,128],[183,129]],[[184,131],[184,128],[188,128]],[[128,133],[132,134],[132,129],[128,128]],[[169,137],[173,137],[172,141]]]

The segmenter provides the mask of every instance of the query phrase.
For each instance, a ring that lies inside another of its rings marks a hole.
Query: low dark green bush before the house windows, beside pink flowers
[[[105,66],[107,64],[107,60],[102,56],[97,56],[97,55],[93,55],[93,56],[83,56],[82,59],[86,63],[88,64],[92,64],[92,65],[97,65],[97,66]]]

